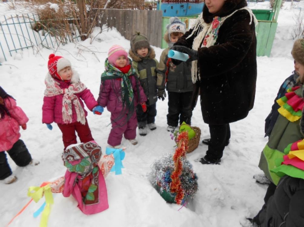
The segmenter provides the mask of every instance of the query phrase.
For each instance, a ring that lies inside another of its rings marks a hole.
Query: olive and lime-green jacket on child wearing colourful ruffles
[[[300,88],[295,90],[295,94],[302,98],[302,90],[303,87],[300,86]],[[290,143],[304,138],[300,131],[300,119],[291,122],[279,113],[275,126],[269,136],[269,141],[261,152],[259,167],[275,185],[278,184],[280,177],[270,172],[270,170],[277,167],[275,163],[276,159],[282,158],[285,155],[284,149]]]

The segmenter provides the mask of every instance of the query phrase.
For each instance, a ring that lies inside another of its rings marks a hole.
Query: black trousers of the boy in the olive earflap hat
[[[147,111],[143,112],[143,108],[140,104],[136,106],[136,117],[138,122],[138,127],[145,127],[147,124],[155,122],[156,116],[156,103],[149,105],[149,101],[146,102]]]

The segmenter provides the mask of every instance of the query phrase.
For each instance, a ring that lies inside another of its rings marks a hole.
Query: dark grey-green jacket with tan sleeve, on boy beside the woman
[[[157,88],[165,88],[168,92],[191,92],[193,84],[191,78],[191,62],[182,62],[174,65],[171,58],[168,58],[170,48],[164,49],[157,68]]]

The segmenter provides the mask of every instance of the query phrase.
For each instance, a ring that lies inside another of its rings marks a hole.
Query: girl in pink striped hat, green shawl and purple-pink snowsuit
[[[123,135],[133,145],[137,144],[135,107],[141,103],[143,111],[147,111],[147,97],[130,62],[125,49],[114,45],[109,49],[105,72],[101,75],[97,102],[111,112],[112,129],[108,144],[114,148],[120,147]]]

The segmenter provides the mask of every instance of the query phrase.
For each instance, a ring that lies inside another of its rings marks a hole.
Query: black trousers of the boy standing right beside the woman
[[[190,109],[190,101],[192,92],[168,92],[168,114],[167,124],[178,126],[186,122],[191,125],[192,110]]]

